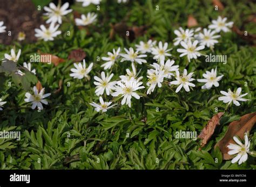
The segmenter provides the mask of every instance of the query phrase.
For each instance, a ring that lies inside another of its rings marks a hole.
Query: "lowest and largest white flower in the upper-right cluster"
[[[184,47],[184,49],[177,49],[177,52],[182,53],[179,56],[187,55],[187,59],[190,62],[190,59],[197,59],[198,56],[201,56],[201,53],[198,51],[205,48],[205,46],[198,46],[198,40],[194,40],[193,44],[191,40],[188,40],[187,44],[184,41],[180,42],[180,45]]]

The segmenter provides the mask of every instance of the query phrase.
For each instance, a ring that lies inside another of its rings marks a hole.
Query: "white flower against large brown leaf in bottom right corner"
[[[229,155],[234,155],[237,154],[237,156],[235,156],[231,163],[235,163],[238,160],[238,164],[240,165],[241,163],[244,163],[247,159],[248,159],[248,155],[247,153],[250,152],[250,141],[248,140],[248,136],[247,133],[245,133],[245,144],[242,144],[242,142],[236,137],[233,137],[233,140],[238,144],[234,144],[234,143],[230,143],[227,147],[229,149],[231,149],[229,152],[227,152]]]

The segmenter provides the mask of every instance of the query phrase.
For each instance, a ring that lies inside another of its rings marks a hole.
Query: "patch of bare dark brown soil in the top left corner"
[[[43,0],[42,0],[43,1]],[[26,34],[26,42],[34,42],[35,28],[44,24],[41,11],[30,0],[0,0],[0,21],[4,21],[6,32],[0,33],[0,43],[11,44],[17,41],[18,33]],[[11,35],[8,35],[11,31]]]

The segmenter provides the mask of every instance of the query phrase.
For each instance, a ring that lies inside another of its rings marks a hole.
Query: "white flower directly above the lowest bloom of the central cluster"
[[[95,93],[97,96],[103,95],[104,91],[106,90],[106,95],[110,95],[112,90],[114,89],[114,85],[116,85],[116,81],[110,82],[111,78],[114,74],[111,74],[109,76],[109,73],[107,73],[107,76],[105,76],[105,72],[102,71],[102,78],[99,78],[97,76],[94,76],[93,78],[98,82],[93,82],[97,87],[95,90]]]

